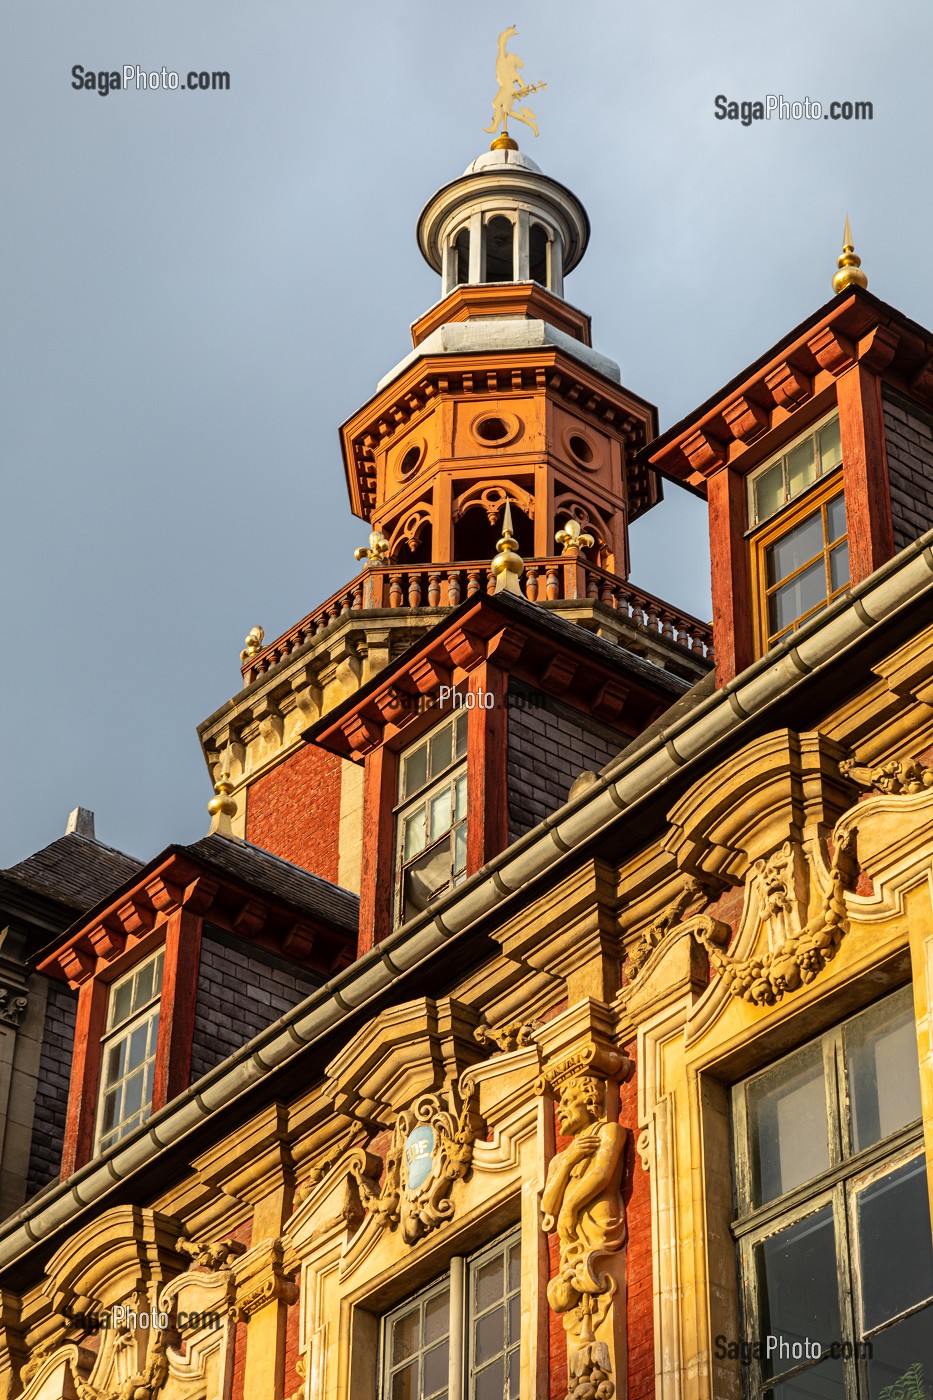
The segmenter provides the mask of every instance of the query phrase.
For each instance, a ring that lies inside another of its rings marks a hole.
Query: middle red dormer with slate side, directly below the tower
[[[479,594],[311,725],[308,742],[364,766],[360,953],[556,811],[689,685],[517,592]]]

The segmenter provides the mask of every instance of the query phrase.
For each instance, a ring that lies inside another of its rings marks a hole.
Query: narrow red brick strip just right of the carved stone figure
[[[635,1044],[625,1047],[635,1060]],[[628,1400],[654,1397],[654,1301],[651,1280],[651,1191],[649,1175],[635,1151],[637,1135],[637,1072],[619,1093],[619,1121],[629,1128],[622,1200],[629,1226],[626,1252],[626,1323],[629,1336]]]

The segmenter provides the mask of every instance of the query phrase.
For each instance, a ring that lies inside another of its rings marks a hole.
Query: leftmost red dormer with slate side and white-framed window
[[[39,970],[78,993],[62,1176],[106,1152],[356,952],[357,900],[245,841],[170,847]]]

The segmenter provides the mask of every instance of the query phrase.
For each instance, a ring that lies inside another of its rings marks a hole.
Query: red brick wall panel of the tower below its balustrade
[[[258,778],[247,798],[247,840],[336,883],[342,763],[305,743]]]

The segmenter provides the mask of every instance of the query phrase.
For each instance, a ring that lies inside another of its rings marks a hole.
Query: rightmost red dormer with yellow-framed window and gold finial
[[[933,526],[933,333],[846,246],[834,300],[640,454],[709,503],[720,685]]]

